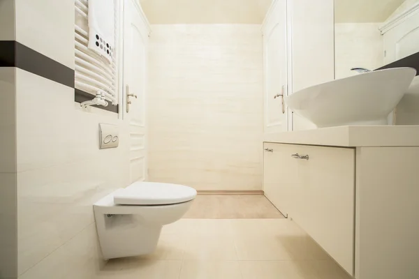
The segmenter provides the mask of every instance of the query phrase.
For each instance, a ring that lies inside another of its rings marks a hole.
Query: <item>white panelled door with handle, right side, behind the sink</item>
[[[284,96],[278,96],[286,95],[287,89],[286,0],[277,1],[267,17],[263,27],[263,56],[265,133],[286,131]]]

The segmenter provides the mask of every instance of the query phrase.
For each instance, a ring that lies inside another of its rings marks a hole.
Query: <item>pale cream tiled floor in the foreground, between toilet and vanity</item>
[[[182,219],[153,255],[113,259],[98,279],[350,279],[287,219]]]

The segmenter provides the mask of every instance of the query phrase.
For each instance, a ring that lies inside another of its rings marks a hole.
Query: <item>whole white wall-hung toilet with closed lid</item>
[[[135,182],[93,206],[104,259],[154,252],[163,225],[188,211],[196,190],[177,184]]]

